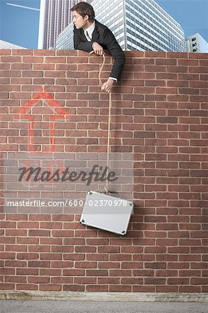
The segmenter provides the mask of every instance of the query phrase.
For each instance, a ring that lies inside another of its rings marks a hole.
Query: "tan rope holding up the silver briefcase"
[[[93,54],[94,51],[91,51],[90,54]],[[102,74],[102,68],[104,67],[105,61],[106,61],[106,57],[104,54],[102,54],[103,56],[103,62],[101,67],[99,68],[99,85],[102,86],[102,80],[101,80],[101,74]],[[106,171],[106,186],[104,186],[103,190],[97,190],[98,192],[101,193],[109,193],[109,165],[110,165],[110,159],[109,159],[109,154],[110,154],[110,150],[111,150],[111,146],[110,146],[110,138],[111,138],[111,107],[112,107],[112,99],[111,99],[111,91],[109,93],[109,127],[108,127],[108,146],[107,146],[107,171]]]

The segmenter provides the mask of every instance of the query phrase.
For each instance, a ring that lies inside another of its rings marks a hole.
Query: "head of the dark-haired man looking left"
[[[90,6],[89,3],[79,2],[70,10],[72,11],[73,22],[77,29],[87,29],[93,24],[95,12],[93,6]]]

